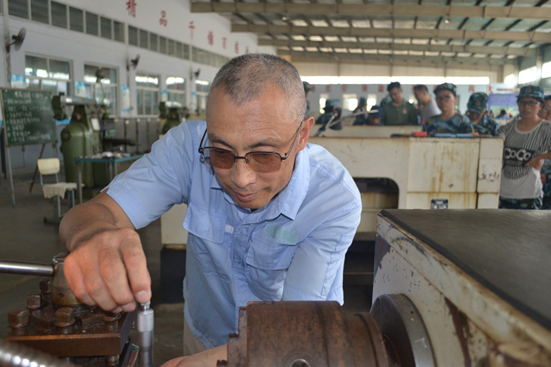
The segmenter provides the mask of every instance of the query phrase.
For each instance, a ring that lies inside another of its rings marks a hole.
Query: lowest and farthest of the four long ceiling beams
[[[278,50],[279,55],[289,55],[301,61],[320,62],[339,61],[339,62],[363,62],[363,63],[408,63],[417,66],[428,66],[429,64],[441,65],[464,65],[471,67],[479,65],[480,67],[492,67],[512,65],[514,61],[508,59],[477,59],[475,57],[447,57],[447,56],[411,56],[411,55],[383,55],[383,54],[349,54],[346,52],[300,52],[290,50]]]

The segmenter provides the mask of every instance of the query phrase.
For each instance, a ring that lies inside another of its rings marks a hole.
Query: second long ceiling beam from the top
[[[314,8],[314,7],[313,7]],[[489,30],[410,30],[403,28],[349,28],[349,27],[308,27],[296,25],[231,25],[231,32],[253,32],[271,34],[310,34],[318,36],[356,37],[398,37],[398,38],[439,38],[439,39],[486,39],[497,41],[551,43],[550,32],[515,32]]]

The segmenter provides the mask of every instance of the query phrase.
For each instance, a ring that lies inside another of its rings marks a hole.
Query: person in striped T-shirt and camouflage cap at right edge
[[[551,158],[551,122],[538,116],[544,106],[543,89],[521,87],[517,104],[519,118],[499,130],[505,140],[499,207],[541,209],[539,170],[543,159]]]

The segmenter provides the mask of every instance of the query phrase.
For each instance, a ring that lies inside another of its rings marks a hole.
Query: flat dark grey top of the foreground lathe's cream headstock
[[[382,216],[551,331],[550,211],[388,209]]]

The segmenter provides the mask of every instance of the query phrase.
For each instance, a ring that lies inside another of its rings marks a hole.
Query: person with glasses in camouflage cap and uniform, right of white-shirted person
[[[472,133],[472,123],[467,116],[457,112],[457,88],[452,83],[437,85],[435,88],[436,104],[441,114],[427,118],[423,131],[428,136],[437,133],[468,134]]]

